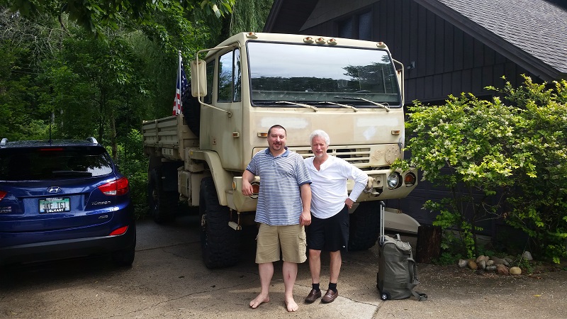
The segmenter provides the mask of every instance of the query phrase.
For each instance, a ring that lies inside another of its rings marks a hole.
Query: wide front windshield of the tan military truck
[[[386,50],[252,41],[247,49],[254,106],[400,107],[398,79]]]

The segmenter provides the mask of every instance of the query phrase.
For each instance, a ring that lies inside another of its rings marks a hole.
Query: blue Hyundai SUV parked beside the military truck
[[[94,138],[0,141],[0,265],[111,254],[134,261],[128,179]]]

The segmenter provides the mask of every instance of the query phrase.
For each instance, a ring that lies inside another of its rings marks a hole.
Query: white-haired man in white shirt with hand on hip
[[[313,131],[309,140],[315,155],[304,159],[311,177],[311,225],[306,233],[313,289],[305,302],[313,303],[321,297],[321,251],[326,250],[330,252],[331,259],[329,289],[321,301],[330,303],[339,295],[337,281],[342,263],[341,250],[347,250],[349,241],[348,209],[364,191],[368,176],[344,159],[327,154],[330,138],[325,131]],[[347,179],[355,182],[350,195]]]

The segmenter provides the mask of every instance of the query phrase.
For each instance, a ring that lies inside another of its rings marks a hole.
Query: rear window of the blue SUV
[[[113,172],[103,147],[9,147],[0,149],[0,180],[97,177]]]

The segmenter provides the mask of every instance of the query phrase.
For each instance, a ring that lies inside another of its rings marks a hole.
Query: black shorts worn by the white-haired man
[[[311,217],[311,225],[305,230],[309,250],[336,252],[347,251],[349,243],[349,211],[345,205],[330,218]]]

